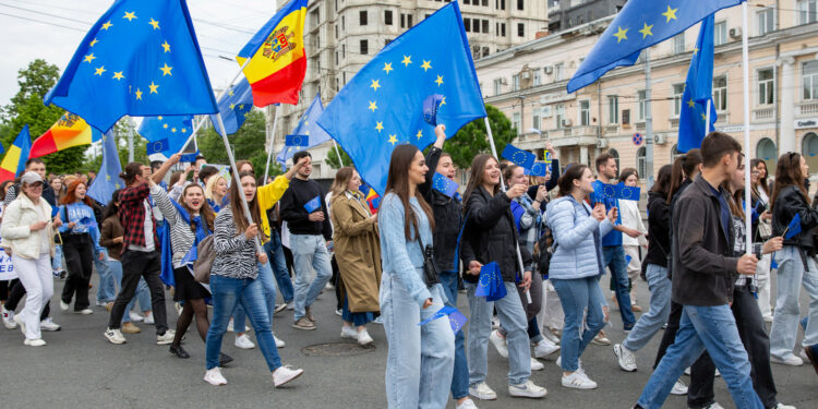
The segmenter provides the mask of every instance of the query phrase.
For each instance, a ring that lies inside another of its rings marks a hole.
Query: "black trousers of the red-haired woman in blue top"
[[[62,287],[62,302],[70,304],[71,299],[76,296],[74,311],[88,308],[88,284],[94,273],[94,244],[91,234],[64,234],[62,242],[62,254],[65,255],[65,269],[68,277],[65,286]]]

